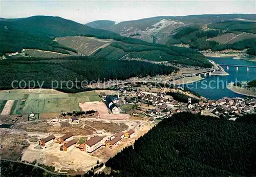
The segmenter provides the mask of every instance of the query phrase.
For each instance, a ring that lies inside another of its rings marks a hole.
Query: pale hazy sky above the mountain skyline
[[[154,16],[256,13],[254,0],[0,0],[0,17],[60,16],[81,24],[108,19],[116,22]]]

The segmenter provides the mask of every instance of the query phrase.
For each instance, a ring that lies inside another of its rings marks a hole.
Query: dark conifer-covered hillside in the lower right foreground
[[[117,176],[255,176],[255,120],[175,114],[105,165]]]

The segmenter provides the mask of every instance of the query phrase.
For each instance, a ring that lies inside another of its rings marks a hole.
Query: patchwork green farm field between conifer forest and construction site
[[[12,93],[12,91],[11,93],[0,92],[0,100],[15,100],[9,112],[12,114],[73,112],[80,110],[78,103],[101,101],[94,91],[76,94],[26,94],[26,92],[22,91],[15,93]]]

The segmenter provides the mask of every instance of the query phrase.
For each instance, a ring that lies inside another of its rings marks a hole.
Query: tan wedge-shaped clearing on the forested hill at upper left
[[[105,47],[111,43],[112,40],[97,39],[92,37],[81,37],[81,36],[70,36],[70,37],[59,37],[56,41],[61,45],[68,46],[75,49],[78,53],[83,55],[90,55],[100,47]]]

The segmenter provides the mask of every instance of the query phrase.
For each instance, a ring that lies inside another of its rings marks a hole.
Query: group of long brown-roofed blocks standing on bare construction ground
[[[59,143],[59,144],[62,144],[60,146],[61,151],[69,151],[74,147],[77,147],[81,151],[92,153],[93,151],[95,151],[101,146],[105,146],[109,149],[113,149],[114,147],[119,145],[119,143],[122,141],[123,138],[133,138],[134,135],[135,135],[135,131],[133,129],[130,129],[125,133],[120,131],[111,137],[95,136],[95,137],[89,138],[86,142],[82,144],[77,144],[78,139],[74,139],[73,134],[68,133],[58,139],[56,139],[54,135],[50,135],[46,138],[40,139],[39,145],[41,147],[46,147],[52,143]]]

